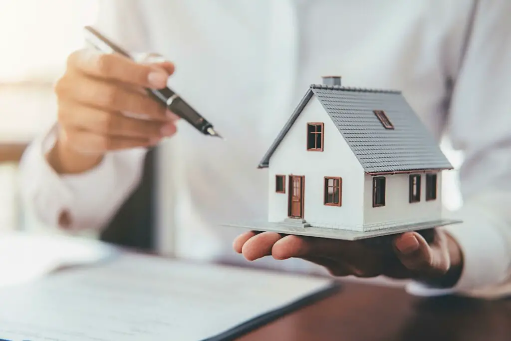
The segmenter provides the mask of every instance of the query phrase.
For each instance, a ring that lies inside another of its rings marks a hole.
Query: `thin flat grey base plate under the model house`
[[[403,225],[388,225],[382,226],[380,230],[373,231],[350,231],[339,230],[332,228],[320,228],[317,226],[309,225],[305,220],[295,221],[285,220],[283,222],[248,222],[248,223],[229,223],[222,224],[223,226],[230,226],[233,228],[242,228],[252,231],[269,231],[285,233],[298,236],[320,237],[329,239],[342,239],[342,240],[360,240],[374,237],[381,237],[393,234],[399,234],[409,231],[421,231],[426,229],[437,228],[440,226],[451,225],[462,222],[461,220],[441,219],[432,220],[421,223],[403,224]]]

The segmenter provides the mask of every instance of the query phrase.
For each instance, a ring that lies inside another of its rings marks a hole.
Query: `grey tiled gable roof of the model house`
[[[366,173],[453,168],[400,91],[316,84],[307,90],[264,155],[259,168],[268,167],[271,155],[313,95],[339,129]],[[386,129],[374,110],[383,110],[394,129]]]

